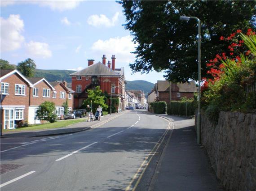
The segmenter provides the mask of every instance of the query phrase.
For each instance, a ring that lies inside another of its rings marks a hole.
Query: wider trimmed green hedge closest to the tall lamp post
[[[169,110],[169,106],[168,106],[168,114],[191,116],[191,115],[194,115],[195,109],[196,109],[196,102],[194,100],[172,101],[171,110]]]

